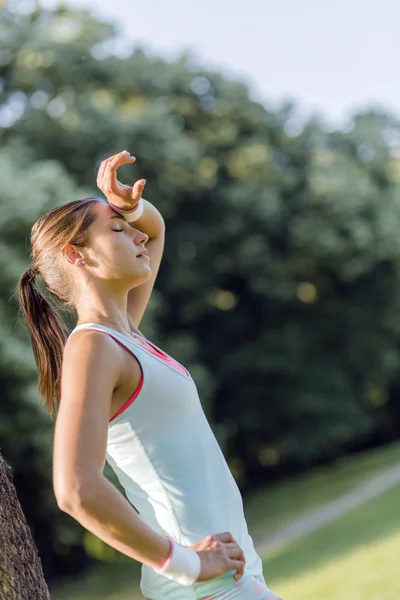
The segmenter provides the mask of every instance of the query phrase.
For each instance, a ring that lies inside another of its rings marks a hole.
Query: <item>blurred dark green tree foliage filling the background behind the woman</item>
[[[138,158],[122,179],[145,177],[167,224],[143,329],[192,371],[239,483],[397,436],[398,122],[294,135],[295,107],[271,113],[187,55],[118,57],[113,27],[66,8],[4,9],[0,35],[0,440],[49,556],[81,534],[57,516],[12,295],[34,220],[96,192],[122,148]]]

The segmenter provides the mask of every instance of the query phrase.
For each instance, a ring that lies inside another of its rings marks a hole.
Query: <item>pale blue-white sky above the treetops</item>
[[[58,0],[40,0],[54,7]],[[120,35],[166,59],[245,81],[274,108],[345,125],[352,112],[383,107],[400,117],[398,0],[64,0],[113,21]]]

